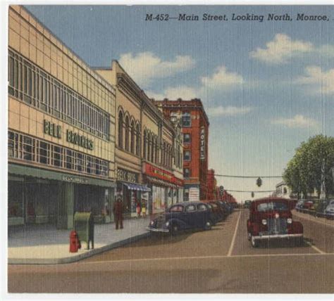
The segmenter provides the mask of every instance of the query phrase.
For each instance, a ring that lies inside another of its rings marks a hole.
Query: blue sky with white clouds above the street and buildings
[[[201,98],[209,167],[280,175],[309,136],[334,136],[333,6],[27,6],[91,66],[117,59],[154,98]],[[147,13],[291,15],[292,21],[151,21]],[[328,21],[297,21],[297,13]],[[280,179],[217,178],[232,190]],[[233,193],[238,200],[250,193]],[[264,196],[263,193],[256,197]]]

